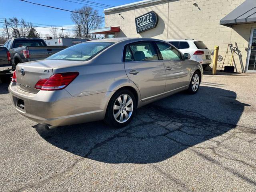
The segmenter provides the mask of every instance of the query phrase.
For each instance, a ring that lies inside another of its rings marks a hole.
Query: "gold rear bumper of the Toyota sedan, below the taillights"
[[[16,111],[30,120],[51,126],[102,120],[109,97],[108,92],[73,97],[65,89],[33,94],[20,90],[15,82],[10,83],[8,90]],[[24,109],[17,106],[20,100],[24,101]]]

